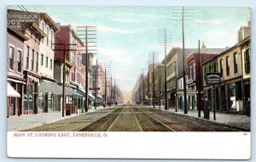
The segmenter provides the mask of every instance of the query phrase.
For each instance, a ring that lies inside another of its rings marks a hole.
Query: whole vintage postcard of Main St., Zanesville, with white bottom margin
[[[9,157],[251,157],[250,8],[12,5],[6,54]]]

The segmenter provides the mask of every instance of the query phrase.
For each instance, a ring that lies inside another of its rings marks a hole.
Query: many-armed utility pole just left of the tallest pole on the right
[[[166,46],[167,46],[167,43],[171,43],[172,41],[172,37],[169,36],[170,34],[168,33],[168,36],[167,36],[167,31],[169,31],[169,29],[159,29],[159,34],[160,34],[160,44],[164,44],[164,47],[165,47],[165,91],[164,91],[164,95],[165,95],[165,109],[167,110],[167,74],[166,74]],[[162,36],[164,37],[164,40],[162,40]]]

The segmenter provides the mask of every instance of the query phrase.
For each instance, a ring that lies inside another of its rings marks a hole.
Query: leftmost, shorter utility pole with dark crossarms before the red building
[[[55,48],[53,51],[63,52],[63,71],[62,71],[62,117],[65,116],[66,111],[66,75],[68,74],[66,71],[66,52],[69,51],[77,51],[76,49],[70,49],[70,46],[77,46],[77,44],[68,44],[64,43],[54,43],[55,46],[63,46],[63,48]],[[68,47],[68,48],[66,48]]]

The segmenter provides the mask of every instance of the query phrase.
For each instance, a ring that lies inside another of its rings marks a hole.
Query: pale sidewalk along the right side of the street
[[[148,108],[153,108],[153,106],[147,106]],[[159,106],[155,106],[154,109],[159,109]],[[161,106],[160,109],[165,110],[164,106]],[[177,109],[177,112],[175,112],[175,109],[168,109],[166,111],[169,111],[174,114],[178,115],[184,115],[183,109]],[[205,120],[203,119],[204,113],[201,111],[201,117],[198,117],[198,111],[197,110],[188,110],[188,114],[186,116],[190,116],[199,120]],[[250,131],[251,130],[251,118],[247,115],[232,115],[232,114],[225,114],[225,113],[218,113],[216,112],[216,120],[213,120],[213,112],[210,112],[210,121],[223,125],[223,126],[229,126],[241,129],[243,131]]]

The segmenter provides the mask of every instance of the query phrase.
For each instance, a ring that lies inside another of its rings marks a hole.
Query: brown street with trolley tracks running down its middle
[[[188,115],[126,104],[58,120],[24,131],[242,131]]]

